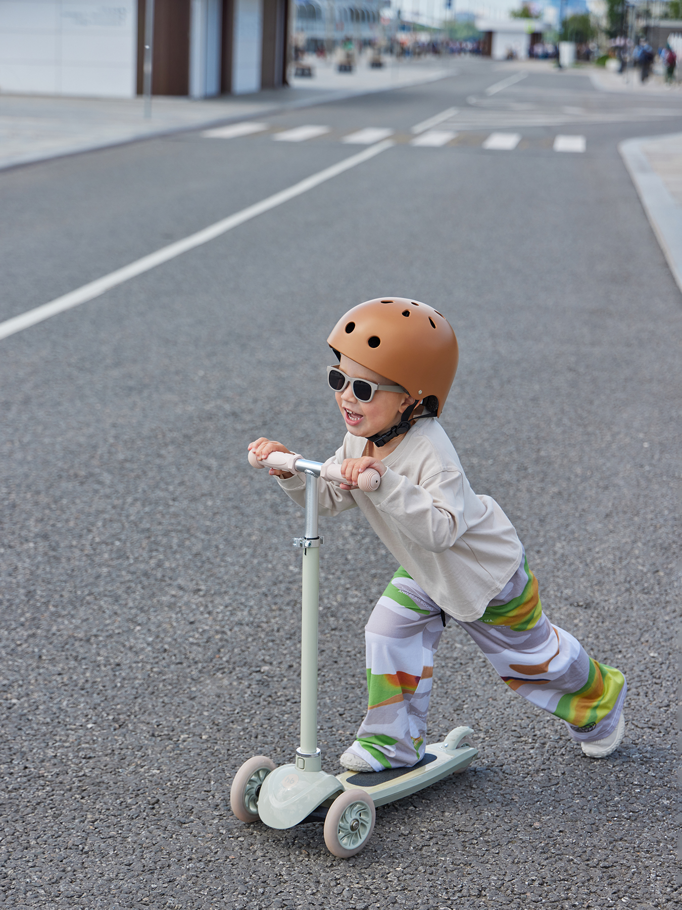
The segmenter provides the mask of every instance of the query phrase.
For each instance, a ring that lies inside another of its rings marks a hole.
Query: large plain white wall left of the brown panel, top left
[[[132,97],[136,0],[0,0],[0,92]]]

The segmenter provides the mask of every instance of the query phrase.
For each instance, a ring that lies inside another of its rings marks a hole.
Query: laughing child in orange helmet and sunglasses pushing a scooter
[[[612,753],[625,730],[624,675],[547,620],[517,532],[496,501],[471,490],[437,420],[457,367],[449,323],[415,300],[368,300],[327,342],[339,361],[327,379],[346,422],[336,461],[347,483],[321,481],[320,514],[358,506],[400,563],[366,625],[369,704],[341,764],[383,771],[423,758],[433,656],[449,618],[586,755]],[[261,459],[288,451],[265,438],[249,449]],[[356,481],[367,468],[381,485],[364,493]],[[300,475],[270,473],[304,505]]]

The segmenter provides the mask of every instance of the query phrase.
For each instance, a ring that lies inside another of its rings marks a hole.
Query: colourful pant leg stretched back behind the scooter
[[[527,561],[525,571],[528,581],[517,598],[459,625],[509,688],[565,721],[573,739],[604,739],[617,727],[626,678],[593,660],[573,635],[549,622]]]

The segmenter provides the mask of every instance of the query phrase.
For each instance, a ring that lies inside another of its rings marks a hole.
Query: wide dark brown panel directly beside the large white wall
[[[155,0],[152,94],[189,95],[190,0]],[[143,90],[145,0],[137,3],[137,94]]]

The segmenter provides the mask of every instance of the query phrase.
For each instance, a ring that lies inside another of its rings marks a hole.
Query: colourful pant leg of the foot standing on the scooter
[[[368,706],[349,749],[375,771],[412,767],[424,757],[442,633],[439,607],[399,569],[365,627]]]

